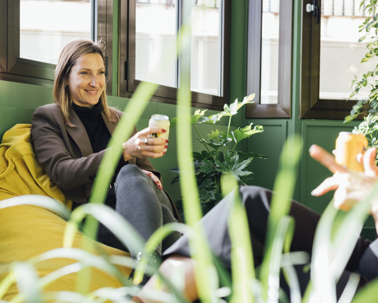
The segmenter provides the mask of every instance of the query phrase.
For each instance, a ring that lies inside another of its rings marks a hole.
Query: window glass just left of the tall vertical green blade
[[[177,87],[176,32],[176,0],[136,1],[136,79]]]

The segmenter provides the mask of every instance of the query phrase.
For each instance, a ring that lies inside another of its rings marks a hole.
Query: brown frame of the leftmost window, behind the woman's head
[[[55,64],[19,57],[19,18],[20,0],[0,0],[0,80],[53,87]],[[109,79],[112,65],[112,18],[112,1],[91,1],[92,38],[107,42]],[[110,80],[107,94],[111,95]]]

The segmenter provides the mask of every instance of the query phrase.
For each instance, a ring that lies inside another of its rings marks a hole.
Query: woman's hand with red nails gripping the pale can
[[[163,128],[145,128],[137,132],[133,137],[122,144],[123,159],[128,161],[133,157],[159,158],[165,154],[168,148],[168,140],[163,138],[149,138],[151,134],[163,134],[167,130]]]

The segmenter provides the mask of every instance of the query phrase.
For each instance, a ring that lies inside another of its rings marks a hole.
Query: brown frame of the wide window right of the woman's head
[[[177,0],[179,8],[179,24],[181,24],[181,1]],[[219,8],[222,13],[222,52],[221,52],[221,83],[222,96],[213,96],[199,92],[192,92],[192,106],[222,110],[225,103],[229,103],[230,83],[230,49],[231,49],[231,0],[222,1]],[[135,79],[135,40],[136,40],[136,0],[120,2],[120,96],[130,98],[141,80]],[[179,62],[178,62],[179,64]],[[179,71],[177,73],[177,83]],[[159,85],[151,101],[176,104],[177,88]]]

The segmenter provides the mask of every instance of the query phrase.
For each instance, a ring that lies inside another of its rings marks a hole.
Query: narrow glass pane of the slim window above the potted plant
[[[280,0],[262,1],[261,104],[278,103]]]

